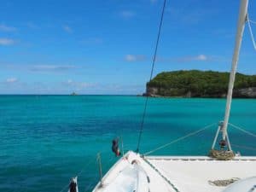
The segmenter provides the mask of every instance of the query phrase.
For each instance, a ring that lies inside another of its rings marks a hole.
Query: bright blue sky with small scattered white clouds
[[[143,93],[162,3],[1,1],[0,94]],[[238,0],[167,0],[154,74],[229,71],[238,9]],[[256,74],[255,59],[246,27],[238,71]]]

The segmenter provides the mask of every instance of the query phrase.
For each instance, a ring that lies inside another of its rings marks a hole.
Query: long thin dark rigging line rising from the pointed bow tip
[[[157,54],[157,50],[158,50],[158,44],[159,44],[159,41],[160,41],[160,32],[161,32],[161,28],[162,28],[162,24],[163,24],[163,20],[164,20],[165,9],[166,9],[166,0],[164,0],[163,9],[162,9],[162,12],[161,12],[160,25],[159,25],[158,34],[157,34],[157,38],[156,38],[156,44],[155,44],[155,48],[154,48],[154,57],[153,57],[153,61],[152,61],[152,67],[151,67],[149,82],[152,80],[153,73],[154,73],[154,65],[155,65],[156,54]],[[148,107],[148,98],[149,97],[147,96],[146,101],[145,101],[145,105],[144,105],[143,119],[142,119],[140,131],[139,131],[138,142],[137,142],[137,150],[136,150],[137,153],[139,152],[139,147],[140,147],[140,143],[141,143],[141,139],[142,139],[144,119],[145,119],[146,111],[147,111],[147,107]]]

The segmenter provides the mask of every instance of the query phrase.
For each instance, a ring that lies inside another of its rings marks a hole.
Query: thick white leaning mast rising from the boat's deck
[[[236,67],[239,59],[239,53],[241,48],[241,40],[244,32],[245,23],[247,21],[247,8],[248,8],[248,0],[241,0],[240,11],[239,11],[239,19],[237,24],[237,32],[236,32],[236,46],[234,50],[234,55],[232,58],[232,67],[230,72],[230,83],[229,90],[227,96],[226,110],[224,116],[224,125],[223,125],[223,139],[225,140],[227,135],[227,127],[230,119],[230,107],[232,101],[233,88],[236,78]]]

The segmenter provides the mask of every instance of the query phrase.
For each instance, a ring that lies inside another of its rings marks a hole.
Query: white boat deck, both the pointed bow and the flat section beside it
[[[146,184],[150,192],[220,192],[225,187],[212,186],[208,181],[256,176],[256,157],[236,157],[229,161],[201,156],[148,156],[143,159],[133,152],[128,152],[125,157],[103,177],[103,187],[98,184],[93,192],[134,191],[125,187],[125,183],[131,183],[132,178],[124,177],[123,172],[131,166],[132,160],[137,160],[149,177],[150,182]],[[134,180],[136,185],[138,181]]]

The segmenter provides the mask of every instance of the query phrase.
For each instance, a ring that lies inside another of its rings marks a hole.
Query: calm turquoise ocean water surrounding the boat
[[[58,192],[78,174],[79,191],[90,191],[98,181],[96,154],[103,172],[118,160],[114,137],[123,138],[125,150],[137,148],[144,102],[137,96],[0,96],[0,191]],[[141,152],[218,123],[224,107],[224,99],[150,98]],[[233,100],[230,122],[255,133],[256,100]],[[155,154],[207,154],[216,128]],[[256,155],[253,137],[230,128],[230,140],[234,150]]]

